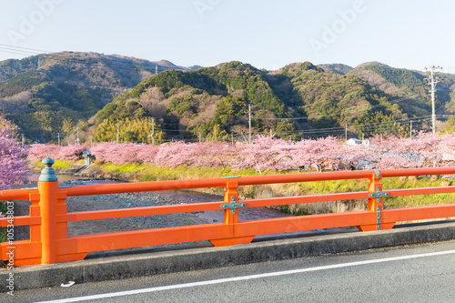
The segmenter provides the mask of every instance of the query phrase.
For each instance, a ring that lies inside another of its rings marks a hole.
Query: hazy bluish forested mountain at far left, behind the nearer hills
[[[169,61],[95,53],[5,60],[0,62],[0,106],[27,138],[47,141],[57,132],[73,132],[114,96],[167,69],[187,70]]]

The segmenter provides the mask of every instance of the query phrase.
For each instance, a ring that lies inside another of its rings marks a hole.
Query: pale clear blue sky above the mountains
[[[0,60],[24,57],[5,52],[16,45],[180,66],[379,61],[455,73],[454,13],[442,0],[0,0]]]

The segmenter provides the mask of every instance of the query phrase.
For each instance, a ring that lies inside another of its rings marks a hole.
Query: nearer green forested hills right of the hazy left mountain
[[[380,64],[330,67],[344,70],[343,75],[323,67],[305,62],[267,72],[229,62],[196,71],[169,70],[105,106],[94,120],[94,138],[113,140],[116,124],[123,123],[127,138],[147,140],[150,126],[141,124],[144,117],[155,118],[160,140],[246,138],[248,105],[253,133],[271,131],[294,139],[344,135],[346,126],[351,136],[404,135],[409,134],[410,118],[416,119],[414,127],[419,122],[428,127],[430,101],[420,73]],[[443,87],[449,88],[447,82]],[[440,113],[451,102],[445,96],[439,92]],[[136,120],[125,122],[126,117]]]

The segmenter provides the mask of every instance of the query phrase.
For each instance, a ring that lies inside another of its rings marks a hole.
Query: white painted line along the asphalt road
[[[111,292],[111,293],[107,293],[107,294],[85,296],[85,297],[60,298],[57,300],[42,301],[42,302],[37,302],[37,303],[51,303],[51,302],[64,303],[64,302],[79,302],[79,301],[93,300],[93,299],[98,299],[98,298],[115,298],[115,297],[121,297],[121,296],[143,294],[143,293],[148,293],[148,292],[156,292],[156,291],[161,291],[161,290],[171,290],[171,289],[178,289],[178,288],[194,288],[194,287],[206,286],[206,285],[212,285],[212,284],[250,280],[250,279],[254,279],[254,278],[278,277],[278,276],[293,275],[293,274],[299,274],[299,273],[310,272],[310,271],[327,270],[327,269],[334,269],[334,268],[349,268],[349,267],[356,267],[359,265],[392,262],[392,261],[399,261],[399,260],[405,260],[405,259],[410,259],[410,258],[434,257],[434,256],[442,256],[442,255],[449,255],[449,254],[455,254],[455,250],[445,250],[445,251],[438,251],[438,252],[432,252],[432,253],[427,253],[427,254],[401,256],[401,257],[393,257],[393,258],[379,258],[379,259],[366,260],[366,261],[326,265],[326,266],[316,267],[316,268],[300,268],[300,269],[284,270],[284,271],[270,272],[270,273],[266,273],[266,274],[250,275],[250,276],[243,276],[243,277],[218,278],[216,280],[169,285],[169,286],[157,287],[157,288],[142,288],[142,289],[135,289],[135,290],[126,290],[126,291]]]

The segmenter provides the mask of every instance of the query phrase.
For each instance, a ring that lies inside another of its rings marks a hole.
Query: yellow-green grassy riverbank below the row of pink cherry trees
[[[72,163],[56,161],[54,167],[67,168]],[[125,181],[161,181],[208,177],[227,176],[255,176],[258,175],[254,169],[231,169],[219,167],[157,167],[155,165],[116,165],[112,163],[99,164],[94,167],[98,177],[115,178]],[[262,175],[292,174],[296,172],[266,171]],[[395,188],[413,187],[447,187],[455,185],[453,178],[437,177],[391,177],[382,180],[384,190]],[[239,187],[240,198],[261,198],[261,197],[289,197],[300,195],[318,195],[328,193],[356,192],[367,189],[368,180],[335,180],[324,182],[306,182],[293,184],[272,184],[262,186]],[[223,188],[201,188],[200,191],[221,195]],[[455,203],[455,194],[438,194],[414,197],[388,197],[384,199],[386,208],[395,207],[418,207],[438,204]],[[278,209],[298,215],[320,214],[330,212],[342,212],[366,209],[367,201],[349,200],[333,201],[327,203],[312,203],[304,205],[289,205],[277,207]]]

